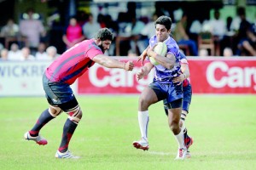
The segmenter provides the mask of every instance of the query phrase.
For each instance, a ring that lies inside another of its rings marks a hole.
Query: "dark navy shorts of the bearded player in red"
[[[50,82],[44,74],[43,86],[49,105],[58,105],[63,111],[79,105],[69,84],[64,82]]]

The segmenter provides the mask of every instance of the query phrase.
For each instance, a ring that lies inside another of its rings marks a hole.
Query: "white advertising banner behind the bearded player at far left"
[[[44,95],[42,77],[47,61],[0,61],[0,96]]]

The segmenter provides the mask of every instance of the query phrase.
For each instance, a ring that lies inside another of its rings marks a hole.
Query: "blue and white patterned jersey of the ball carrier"
[[[155,74],[154,81],[159,81],[162,83],[172,83],[172,78],[177,77],[180,73],[180,54],[177,42],[172,38],[168,37],[164,41],[167,46],[167,54],[173,54],[176,57],[176,63],[171,70],[166,69],[163,65],[154,65]],[[154,47],[154,44],[157,43],[156,36],[151,37],[149,40],[149,46]]]

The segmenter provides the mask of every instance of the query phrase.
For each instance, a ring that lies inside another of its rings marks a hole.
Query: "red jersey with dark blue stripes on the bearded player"
[[[98,54],[103,52],[94,39],[84,40],[55,59],[46,69],[45,75],[51,82],[65,82],[71,85],[95,64],[92,59]]]

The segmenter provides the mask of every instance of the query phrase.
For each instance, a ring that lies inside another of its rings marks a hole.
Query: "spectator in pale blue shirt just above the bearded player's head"
[[[93,38],[95,36],[95,31],[101,29],[99,23],[94,20],[92,14],[89,14],[88,21],[83,26],[83,32],[86,39]]]

